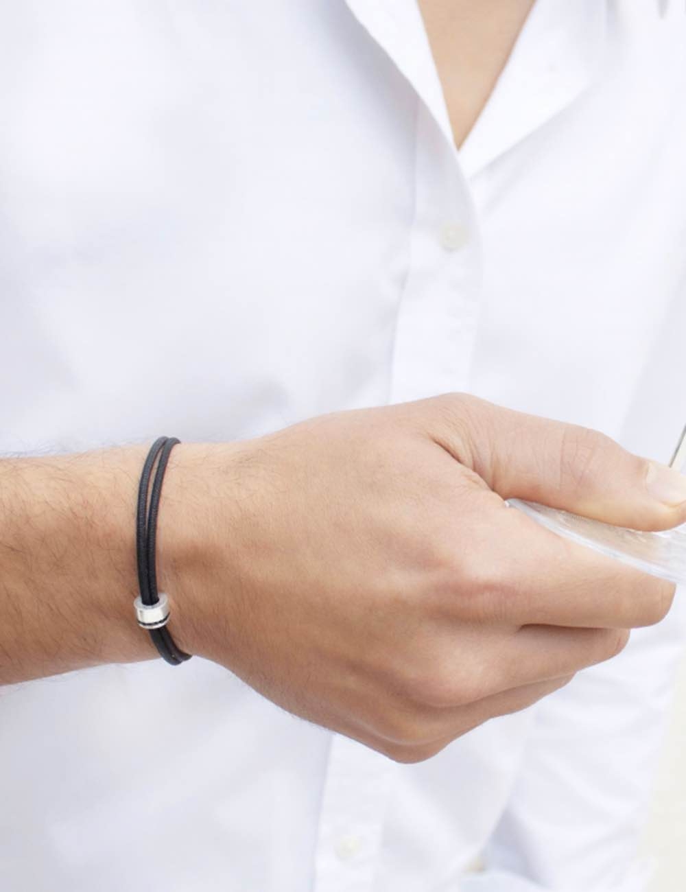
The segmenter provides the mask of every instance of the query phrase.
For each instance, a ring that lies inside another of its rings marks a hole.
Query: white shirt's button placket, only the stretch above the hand
[[[467,388],[482,282],[475,202],[416,0],[348,0],[417,94],[415,212],[389,401]]]

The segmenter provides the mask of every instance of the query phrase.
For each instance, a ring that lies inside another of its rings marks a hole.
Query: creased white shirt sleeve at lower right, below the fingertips
[[[662,623],[534,706],[484,872],[461,892],[645,892],[638,854],[683,652],[686,588]]]

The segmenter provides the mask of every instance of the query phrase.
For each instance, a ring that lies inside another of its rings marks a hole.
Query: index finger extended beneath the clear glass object
[[[551,533],[516,508],[470,513],[455,543],[456,620],[631,629],[662,620],[672,582]]]

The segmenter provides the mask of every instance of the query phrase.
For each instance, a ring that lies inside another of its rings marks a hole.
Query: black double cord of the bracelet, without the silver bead
[[[146,605],[156,604],[157,567],[155,561],[155,542],[157,539],[157,516],[160,512],[160,496],[164,471],[169,461],[171,450],[179,441],[176,437],[159,437],[153,442],[145,458],[140,485],[138,486],[138,505],[136,510],[136,563],[138,567],[138,587],[141,600]],[[153,474],[155,460],[159,456],[153,480],[153,489],[148,506],[148,489]],[[150,637],[160,656],[170,665],[180,665],[191,658],[174,643],[166,626],[161,629],[149,629]]]

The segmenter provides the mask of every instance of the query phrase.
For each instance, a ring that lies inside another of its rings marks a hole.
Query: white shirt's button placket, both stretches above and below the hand
[[[389,387],[390,402],[407,401],[467,386],[481,280],[480,240],[434,64],[422,45],[426,38],[417,5],[414,0],[348,0],[348,5],[417,92],[415,212]],[[385,756],[332,736],[313,892],[375,888],[384,815],[398,770]]]

